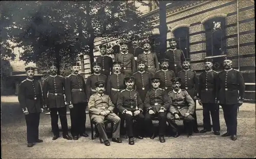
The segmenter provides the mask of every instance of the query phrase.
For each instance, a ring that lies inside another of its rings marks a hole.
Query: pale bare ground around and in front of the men
[[[238,140],[207,133],[194,133],[187,138],[166,137],[165,143],[158,138],[151,140],[135,139],[135,145],[111,142],[111,146],[100,144],[99,140],[81,137],[68,141],[62,138],[52,141],[51,120],[45,112],[41,113],[38,143],[32,148],[26,143],[26,122],[15,96],[1,97],[2,102],[2,158],[251,158],[255,152],[255,104],[244,103],[238,113]],[[198,106],[200,109],[200,106]],[[199,129],[202,129],[202,110],[197,111]],[[70,116],[68,124],[70,126]],[[226,132],[226,125],[220,109],[221,133]],[[179,125],[182,122],[178,122]],[[60,126],[60,124],[59,124]],[[86,122],[90,135],[89,118]]]

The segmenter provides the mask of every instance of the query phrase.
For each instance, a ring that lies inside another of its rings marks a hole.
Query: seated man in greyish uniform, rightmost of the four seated
[[[180,117],[183,117],[185,130],[188,136],[192,135],[194,118],[191,115],[193,115],[195,111],[195,102],[186,90],[180,89],[181,78],[174,77],[171,81],[173,83],[174,90],[170,91],[168,96],[170,100],[172,100],[173,105],[171,105],[168,110],[167,121],[169,124],[174,126],[174,129],[177,132],[175,137],[177,138],[179,136],[179,131],[177,124],[175,124],[175,119],[180,120]]]

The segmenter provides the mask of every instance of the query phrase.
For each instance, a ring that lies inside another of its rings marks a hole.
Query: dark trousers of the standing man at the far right
[[[238,104],[229,104],[229,105],[222,104],[221,106],[222,106],[228,134],[237,135]]]

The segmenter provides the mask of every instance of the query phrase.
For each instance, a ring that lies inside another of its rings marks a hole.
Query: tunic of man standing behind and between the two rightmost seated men
[[[173,90],[173,83],[170,81],[170,79],[175,77],[175,73],[173,71],[169,70],[159,70],[156,72],[155,77],[160,78],[160,88],[167,91],[167,93],[170,90]]]

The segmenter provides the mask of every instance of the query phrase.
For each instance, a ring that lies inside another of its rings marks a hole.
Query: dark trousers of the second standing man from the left
[[[51,113],[51,124],[54,135],[59,135],[58,119],[60,119],[61,128],[63,135],[68,134],[68,121],[67,121],[67,107],[61,108],[50,108]],[[57,115],[57,112],[59,115]],[[58,118],[59,116],[59,118]]]

